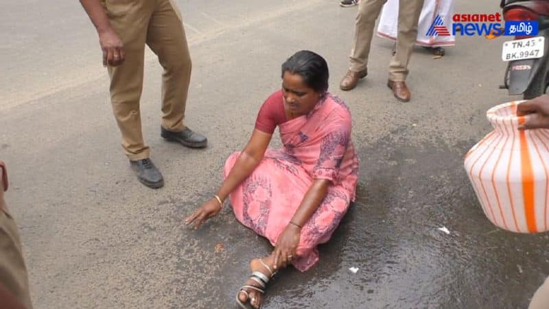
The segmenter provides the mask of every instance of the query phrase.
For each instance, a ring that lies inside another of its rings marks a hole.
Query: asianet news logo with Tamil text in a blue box
[[[537,21],[502,21],[502,14],[455,14],[452,16],[452,32],[436,15],[426,36],[535,36],[539,32]]]

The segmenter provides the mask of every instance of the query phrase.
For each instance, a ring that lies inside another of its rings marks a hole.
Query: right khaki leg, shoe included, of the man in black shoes
[[[191,81],[191,55],[183,20],[174,1],[157,1],[148,27],[147,44],[159,56],[164,68],[161,135],[187,147],[205,147],[207,138],[183,124]]]

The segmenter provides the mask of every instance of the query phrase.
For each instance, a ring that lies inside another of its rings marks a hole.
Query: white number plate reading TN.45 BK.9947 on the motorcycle
[[[545,38],[523,38],[503,43],[502,60],[514,61],[523,59],[541,58],[544,56]]]

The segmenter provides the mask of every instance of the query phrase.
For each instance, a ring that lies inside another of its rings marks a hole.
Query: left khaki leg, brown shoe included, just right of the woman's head
[[[375,20],[379,16],[387,0],[363,0],[358,5],[358,14],[355,22],[355,38],[353,49],[349,57],[349,71],[340,83],[342,90],[355,88],[358,80],[368,74],[368,57],[375,27]]]

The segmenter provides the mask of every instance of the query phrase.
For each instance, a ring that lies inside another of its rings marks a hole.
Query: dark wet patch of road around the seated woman
[[[410,134],[412,129],[395,130],[361,149],[366,160],[356,203],[331,241],[320,246],[314,269],[288,269],[273,281],[266,308],[528,306],[549,269],[549,237],[511,234],[487,221],[463,172],[465,145],[472,140],[416,148],[407,143]],[[248,260],[270,250],[231,212],[217,221],[221,225],[199,232],[205,250],[230,244],[215,273],[220,279],[214,286],[222,288],[214,290],[219,298],[209,303],[213,307],[233,297],[234,289],[224,284],[239,286],[247,275],[240,259],[229,262],[231,256]],[[220,236],[224,230],[237,232]],[[359,271],[353,274],[350,267]]]

